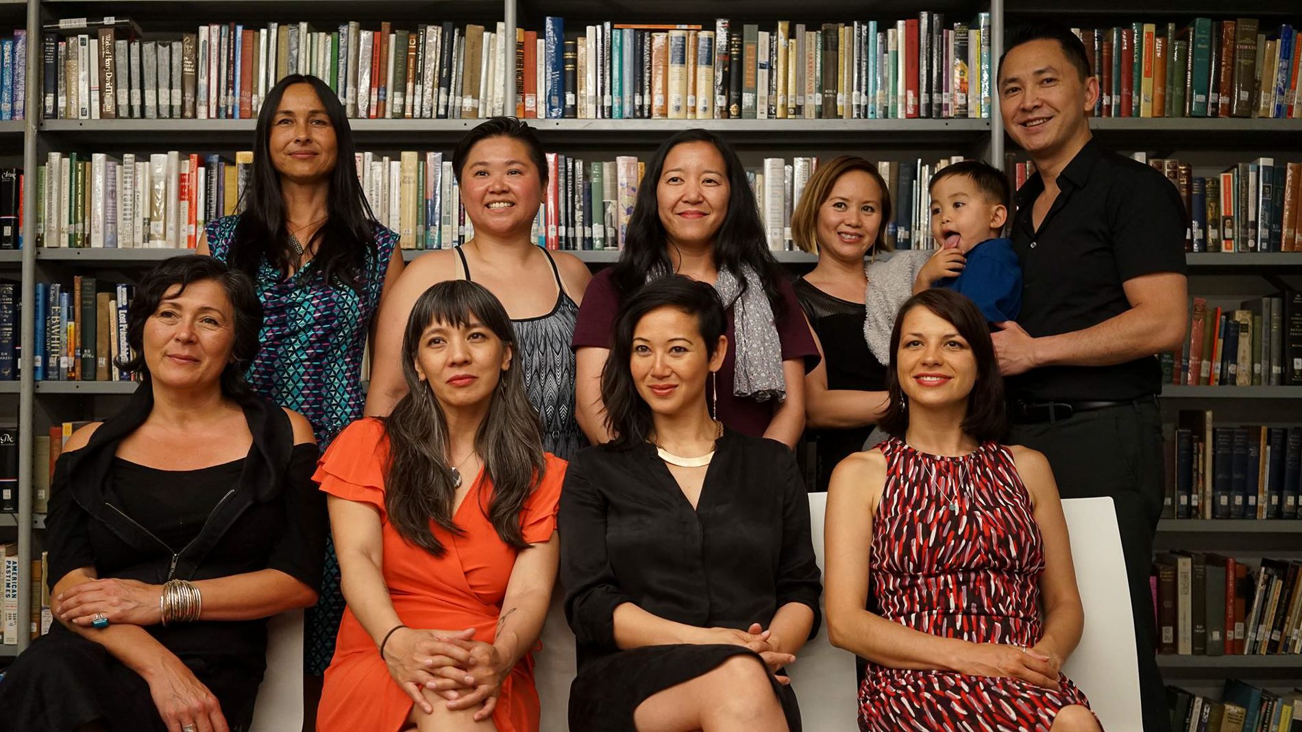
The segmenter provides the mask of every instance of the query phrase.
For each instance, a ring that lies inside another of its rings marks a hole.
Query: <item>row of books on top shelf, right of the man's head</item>
[[[1099,79],[1096,117],[1302,117],[1293,26],[1256,18],[1077,29]]]

